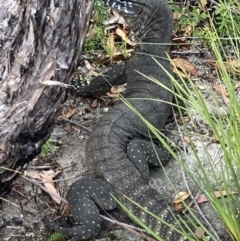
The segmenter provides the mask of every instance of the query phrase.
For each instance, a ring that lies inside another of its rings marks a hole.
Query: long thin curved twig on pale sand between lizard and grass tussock
[[[182,141],[184,142],[183,133],[182,133],[182,131],[181,131],[181,129],[180,129],[178,123],[177,123],[177,120],[176,120],[176,117],[175,117],[176,114],[175,114],[175,112],[174,112],[174,109],[173,109],[173,116],[174,116],[174,119],[175,119],[175,122],[176,122],[176,125],[177,125],[177,128],[178,128],[178,131],[179,131],[179,133],[180,133],[181,139],[182,139]],[[187,157],[187,151],[186,151],[186,147],[185,147],[185,146],[183,147],[183,150],[184,150],[185,156]],[[216,232],[215,229],[213,228],[212,224],[208,221],[208,219],[206,218],[206,216],[204,215],[204,213],[203,213],[202,210],[200,209],[200,207],[199,207],[199,205],[198,205],[198,203],[197,203],[197,201],[196,201],[196,198],[192,195],[192,193],[191,193],[191,191],[190,191],[190,188],[189,188],[189,186],[188,186],[187,180],[186,180],[185,172],[184,172],[184,170],[183,170],[182,167],[181,167],[181,172],[182,172],[182,176],[183,176],[183,180],[184,180],[184,183],[185,183],[185,185],[186,185],[186,188],[187,188],[187,190],[188,190],[188,192],[189,192],[189,194],[190,194],[190,196],[191,196],[191,198],[192,198],[192,201],[193,201],[193,203],[195,204],[195,206],[196,206],[199,214],[200,214],[201,217],[203,218],[204,222],[208,225],[208,227],[209,227],[209,229],[211,230],[211,232],[215,235],[215,237],[217,238],[217,240],[221,241],[221,239],[219,238],[217,232]]]

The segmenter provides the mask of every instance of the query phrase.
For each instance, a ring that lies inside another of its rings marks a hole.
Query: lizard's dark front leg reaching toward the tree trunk
[[[73,81],[68,88],[78,96],[93,97],[105,95],[112,86],[125,83],[125,70],[125,64],[116,65],[103,75],[92,79],[89,85],[81,86],[78,81]]]

